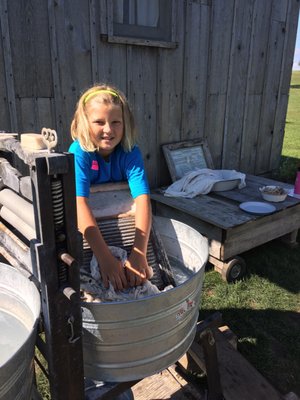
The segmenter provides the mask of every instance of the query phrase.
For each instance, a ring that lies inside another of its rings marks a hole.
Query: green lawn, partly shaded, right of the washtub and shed
[[[294,182],[300,166],[300,71],[291,80],[279,178]],[[298,235],[298,242],[300,235]],[[300,246],[273,241],[242,254],[248,275],[227,284],[205,274],[201,318],[220,311],[238,350],[282,393],[300,396]]]

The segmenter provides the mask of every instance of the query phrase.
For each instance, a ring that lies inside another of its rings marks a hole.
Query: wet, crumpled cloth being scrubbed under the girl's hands
[[[115,246],[109,246],[111,253],[118,258],[122,264],[127,260],[127,253],[124,249]],[[123,290],[115,290],[109,282],[109,287],[103,285],[98,261],[93,255],[90,262],[90,273],[81,271],[80,273],[80,290],[81,298],[88,302],[108,302],[108,301],[128,301],[137,300],[146,296],[152,296],[160,293],[157,286],[146,280],[142,285],[129,287]],[[173,286],[164,290],[171,289]]]

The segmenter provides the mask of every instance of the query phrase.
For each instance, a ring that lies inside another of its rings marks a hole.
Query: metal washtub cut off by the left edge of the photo
[[[0,263],[0,399],[28,400],[40,295],[29,279]]]

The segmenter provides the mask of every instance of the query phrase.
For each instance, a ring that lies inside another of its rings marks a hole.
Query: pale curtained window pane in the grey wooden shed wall
[[[114,21],[157,27],[159,0],[114,0]]]

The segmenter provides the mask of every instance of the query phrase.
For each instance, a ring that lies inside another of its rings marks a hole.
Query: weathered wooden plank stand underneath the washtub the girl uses
[[[236,336],[222,326],[217,312],[198,323],[195,340],[176,365],[139,382],[116,384],[87,400],[115,399],[129,387],[134,400],[299,400],[292,392],[280,394],[237,351],[236,344]],[[206,375],[208,390],[197,375]]]

